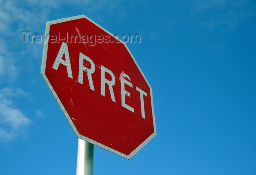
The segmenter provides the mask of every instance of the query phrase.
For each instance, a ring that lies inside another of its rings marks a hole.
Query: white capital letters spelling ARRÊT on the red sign
[[[25,33],[25,34],[27,34],[27,33]],[[63,55],[65,56],[65,60],[62,59]],[[84,60],[88,61],[91,66],[88,66],[88,65],[84,66]],[[59,52],[56,56],[56,59],[54,61],[54,64],[53,64],[52,68],[57,70],[59,68],[60,64],[63,64],[64,66],[66,66],[68,77],[73,79],[72,70],[71,70],[71,63],[70,63],[70,58],[69,58],[69,52],[68,52],[68,45],[65,42],[61,43]],[[91,68],[89,69],[88,67],[91,67]],[[93,74],[95,72],[94,62],[93,62],[93,60],[91,60],[91,58],[89,58],[86,55],[79,52],[78,82],[80,84],[83,84],[83,73],[84,73],[84,71],[87,73],[87,77],[88,77],[88,81],[89,81],[89,85],[90,85],[91,90],[95,91],[94,90],[93,79],[92,79],[92,76],[91,76],[91,74]],[[111,76],[111,80],[108,80],[109,78],[106,79],[105,72],[109,73],[109,75]],[[128,97],[131,96],[130,92],[125,90],[125,84],[132,88],[133,85],[130,82],[131,78],[127,74],[123,73],[123,75],[120,76],[120,81],[121,81],[121,104],[122,104],[123,107],[125,107],[126,109],[128,109],[128,110],[130,110],[134,113],[134,108],[125,103],[125,95],[127,95]],[[116,78],[115,78],[113,72],[110,71],[105,66],[101,65],[101,95],[105,96],[105,85],[108,84],[111,100],[113,102],[116,102],[116,99],[115,99],[115,96],[114,96],[114,91],[113,91],[113,85],[115,83],[116,83]],[[142,116],[142,118],[145,118],[144,96],[147,96],[147,93],[144,92],[143,90],[141,90],[138,87],[136,87],[136,90],[140,92],[141,116]]]

